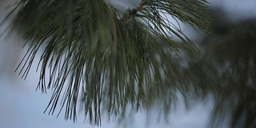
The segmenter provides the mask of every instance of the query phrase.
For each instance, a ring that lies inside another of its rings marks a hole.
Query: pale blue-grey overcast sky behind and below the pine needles
[[[128,3],[129,1],[122,0],[119,4],[123,6],[123,2]],[[210,0],[209,2],[210,6],[220,6],[224,8],[231,15],[231,18],[234,19],[255,17],[256,15],[255,0]],[[0,20],[2,20],[6,15],[4,14],[6,8],[3,4],[3,0],[0,0],[0,7]],[[132,8],[133,4],[130,4],[128,7]],[[0,32],[2,31],[3,29],[1,27]],[[40,91],[35,91],[38,82],[38,73],[31,70],[25,81],[22,80],[17,73],[14,74],[14,69],[25,52],[25,50],[22,50],[21,45],[17,45],[17,42],[22,42],[22,38],[15,33],[7,40],[3,37],[0,38],[0,127],[93,127],[88,123],[83,123],[82,116],[80,116],[80,118],[78,117],[78,122],[74,124],[71,121],[64,121],[63,117],[56,118],[56,114],[54,114],[54,116],[43,114],[49,101],[50,94],[41,94]],[[18,54],[21,54],[21,56]],[[198,104],[198,106],[194,106],[194,109],[189,112],[184,110],[182,104],[180,104],[179,107],[181,109],[178,109],[177,112],[171,114],[170,124],[150,121],[150,126],[170,128],[207,127],[211,109],[210,103],[207,103],[206,106]],[[154,114],[151,116],[155,117]],[[130,118],[132,123],[129,125],[127,124],[127,128],[144,127],[145,120],[145,113],[136,114],[134,118]],[[106,121],[106,118],[102,119],[102,128],[112,128],[115,126],[113,122]],[[225,127],[226,126],[223,126],[223,128]]]

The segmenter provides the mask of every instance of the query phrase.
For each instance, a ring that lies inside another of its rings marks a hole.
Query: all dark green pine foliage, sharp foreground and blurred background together
[[[54,114],[60,104],[66,119],[76,119],[78,105],[96,125],[102,113],[123,118],[130,107],[156,103],[166,115],[177,93],[186,105],[210,94],[212,127],[255,127],[255,20],[234,25],[215,13],[201,56],[179,22],[208,34],[206,4],[143,0],[120,14],[104,0],[21,0],[10,13],[18,10],[10,30],[28,46],[19,74],[26,78],[39,54],[38,89],[54,92],[46,110]]]

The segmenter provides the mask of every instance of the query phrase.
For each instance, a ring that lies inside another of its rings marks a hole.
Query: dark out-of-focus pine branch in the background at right
[[[234,23],[219,9],[211,15],[213,31],[203,39],[205,52],[194,66],[205,73],[194,75],[192,82],[207,80],[202,86],[214,95],[210,126],[229,122],[230,128],[255,127],[256,18]]]

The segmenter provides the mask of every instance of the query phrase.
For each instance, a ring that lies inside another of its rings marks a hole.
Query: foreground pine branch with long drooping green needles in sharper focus
[[[168,111],[177,92],[191,98],[193,93],[186,92],[194,88],[183,78],[182,65],[200,57],[170,18],[208,33],[207,4],[143,0],[121,15],[106,0],[20,0],[10,27],[22,32],[28,46],[19,74],[26,78],[42,49],[38,89],[54,92],[47,110],[54,114],[60,103],[65,118],[74,121],[78,101],[95,125],[102,112],[116,117],[125,115],[127,106],[134,112],[149,110],[156,100]],[[197,97],[200,92],[201,88],[194,90]]]

